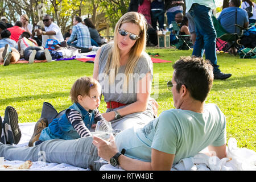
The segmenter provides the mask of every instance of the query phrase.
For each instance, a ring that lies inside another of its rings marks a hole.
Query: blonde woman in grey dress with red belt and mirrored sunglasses
[[[96,53],[93,77],[102,86],[108,108],[102,116],[111,121],[113,129],[143,126],[154,118],[150,101],[152,61],[144,51],[146,31],[142,14],[126,13],[115,25],[113,42]]]

